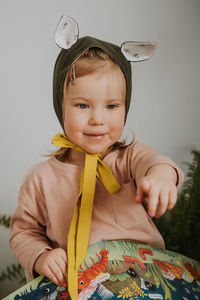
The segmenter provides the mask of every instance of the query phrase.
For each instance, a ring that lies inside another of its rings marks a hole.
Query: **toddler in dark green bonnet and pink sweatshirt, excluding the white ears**
[[[53,87],[60,149],[25,176],[10,245],[30,276],[68,281],[70,290],[87,245],[133,240],[164,248],[151,218],[174,207],[183,174],[152,148],[118,141],[131,97],[130,62],[118,46],[79,39],[59,54]]]

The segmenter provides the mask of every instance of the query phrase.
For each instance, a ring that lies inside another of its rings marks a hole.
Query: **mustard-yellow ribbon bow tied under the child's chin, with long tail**
[[[79,196],[75,203],[67,240],[68,291],[71,298],[76,300],[78,299],[78,267],[87,254],[96,177],[104,184],[110,194],[117,192],[120,185],[111,170],[102,161],[100,154],[90,154],[84,151],[61,133],[53,138],[52,143],[55,146],[85,152],[85,165],[81,173]]]

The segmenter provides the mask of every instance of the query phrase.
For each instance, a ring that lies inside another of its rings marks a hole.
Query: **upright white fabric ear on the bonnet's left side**
[[[56,44],[62,49],[69,49],[76,43],[78,35],[79,29],[76,21],[70,17],[62,16],[55,32]]]

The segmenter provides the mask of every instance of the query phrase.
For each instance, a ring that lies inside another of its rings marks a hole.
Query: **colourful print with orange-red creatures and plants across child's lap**
[[[78,272],[79,300],[200,300],[200,264],[181,254],[131,241],[88,248]],[[3,300],[70,300],[67,288],[38,277]]]

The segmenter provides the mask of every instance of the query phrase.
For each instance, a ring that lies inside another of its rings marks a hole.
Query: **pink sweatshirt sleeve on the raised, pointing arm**
[[[139,142],[133,143],[130,147],[131,154],[131,173],[136,184],[139,179],[144,177],[148,170],[156,164],[167,164],[175,169],[177,174],[177,189],[181,187],[184,181],[184,174],[182,170],[167,156],[158,154],[153,148],[141,144]]]

